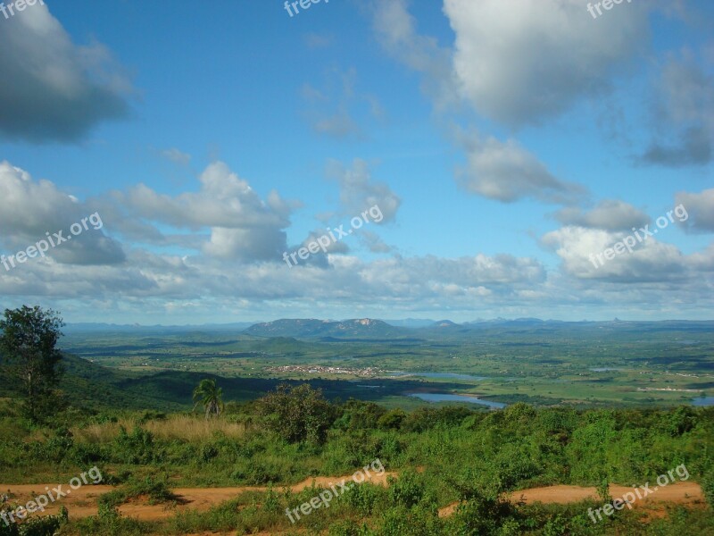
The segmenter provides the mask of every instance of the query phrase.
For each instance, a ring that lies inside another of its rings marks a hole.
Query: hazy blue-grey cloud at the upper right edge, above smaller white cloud
[[[644,163],[667,167],[705,165],[714,158],[714,78],[693,54],[670,57],[658,80],[653,107],[656,137]]]

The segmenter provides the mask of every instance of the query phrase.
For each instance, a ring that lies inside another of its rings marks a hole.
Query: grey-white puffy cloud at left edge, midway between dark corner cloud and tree
[[[104,234],[101,214],[96,224],[87,221],[87,230],[76,236],[71,225],[93,214],[88,205],[59,190],[49,180],[33,180],[28,172],[0,162],[0,240],[5,250],[14,254],[38,240],[62,230],[71,239],[50,249],[47,256],[62,264],[117,264],[124,258],[120,244]],[[94,229],[98,227],[99,229]]]

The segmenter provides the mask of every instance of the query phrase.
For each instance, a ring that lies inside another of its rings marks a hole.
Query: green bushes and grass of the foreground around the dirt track
[[[70,415],[57,415],[53,427],[37,427],[10,406],[0,413],[0,427],[14,431],[0,441],[8,483],[26,482],[28,474],[37,482],[63,482],[98,465],[119,484],[100,499],[99,515],[74,520],[70,509],[62,534],[296,528],[380,535],[691,533],[681,532],[683,526],[714,533],[703,505],[674,508],[646,524],[642,511],[626,509],[595,525],[587,508],[602,503],[525,506],[508,496],[548,484],[653,482],[685,464],[710,497],[706,482],[714,460],[706,453],[714,452],[714,408],[577,411],[515,404],[491,412],[445,406],[406,413],[359,400],[332,404],[303,386],[278,388],[256,402],[228,402],[220,419],[209,421],[189,413],[74,413],[71,422]],[[293,427],[279,425],[276,415],[295,420]],[[316,415],[322,420],[315,422]],[[309,501],[319,489],[283,486],[350,474],[376,458],[398,474],[388,487],[364,483],[295,526],[287,520],[285,508]],[[270,487],[238,493],[207,512],[179,509],[154,522],[118,510],[137,499],[170,508],[180,500],[171,491],[177,487],[241,485]],[[436,515],[456,501],[453,515]]]

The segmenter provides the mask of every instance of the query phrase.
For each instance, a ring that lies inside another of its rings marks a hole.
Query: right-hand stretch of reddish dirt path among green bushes
[[[626,493],[632,491],[632,488],[625,486],[610,486],[610,497],[621,498]],[[676,503],[681,505],[694,505],[704,500],[704,494],[699,484],[694,482],[674,482],[667,487],[661,487],[655,490],[652,488],[652,493],[643,498],[637,498],[633,503],[633,507],[643,507],[655,503]],[[535,502],[550,503],[550,504],[567,504],[579,502],[586,498],[594,498],[598,500],[597,491],[595,488],[581,488],[580,486],[548,486],[545,488],[531,488],[530,490],[520,490],[511,493],[511,500],[524,500],[526,504]],[[448,517],[456,510],[459,503],[452,503],[447,507],[439,510],[439,517]]]

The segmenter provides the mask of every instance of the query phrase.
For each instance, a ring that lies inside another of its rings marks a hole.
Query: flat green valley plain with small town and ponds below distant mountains
[[[62,348],[138,382],[167,372],[255,379],[253,398],[277,380],[322,381],[320,386],[330,397],[405,407],[421,404],[404,396],[414,391],[578,407],[676,406],[714,395],[712,331],[679,325],[653,330],[629,324],[563,324],[548,330],[485,329],[469,337],[433,331],[415,335],[417,341],[326,342],[258,339],[240,333],[92,333],[65,337]],[[330,372],[329,367],[342,370]],[[355,373],[368,369],[378,372]],[[483,379],[395,377],[395,372]],[[239,397],[248,398],[245,391]]]

